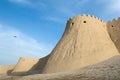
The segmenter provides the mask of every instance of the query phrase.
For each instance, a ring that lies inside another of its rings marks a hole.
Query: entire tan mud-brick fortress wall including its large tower
[[[119,25],[120,18],[106,24],[95,16],[75,16],[68,20],[65,32],[51,54],[41,59],[22,57],[16,65],[0,66],[0,73],[23,74],[34,70],[56,73],[107,60],[119,55]]]

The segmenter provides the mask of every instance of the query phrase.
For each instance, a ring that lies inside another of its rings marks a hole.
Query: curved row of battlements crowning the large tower
[[[89,14],[88,15],[86,15],[86,14],[83,14],[83,15],[78,14],[77,16],[74,16],[74,17],[70,18],[68,21],[71,22],[71,21],[78,20],[78,19],[90,19],[90,20],[94,20],[96,22],[106,24],[106,22],[103,21],[102,19],[100,19],[100,18],[98,18],[98,17],[96,17],[94,15],[89,15]]]

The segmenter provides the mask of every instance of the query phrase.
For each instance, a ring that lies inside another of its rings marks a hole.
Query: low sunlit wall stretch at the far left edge
[[[0,66],[0,74],[9,74],[15,65]]]

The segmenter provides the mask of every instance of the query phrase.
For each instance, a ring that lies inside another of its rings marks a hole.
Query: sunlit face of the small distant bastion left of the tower
[[[36,64],[39,62],[39,59],[32,58],[23,58],[21,57],[16,64],[12,73],[22,73],[34,70],[36,68]]]

